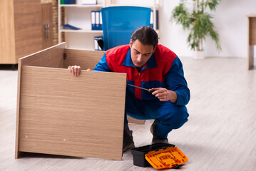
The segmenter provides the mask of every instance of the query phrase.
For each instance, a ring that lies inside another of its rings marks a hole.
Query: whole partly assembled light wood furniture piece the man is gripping
[[[103,51],[61,43],[19,59],[16,152],[121,160],[126,73],[93,69]],[[79,65],[72,76],[68,66]]]

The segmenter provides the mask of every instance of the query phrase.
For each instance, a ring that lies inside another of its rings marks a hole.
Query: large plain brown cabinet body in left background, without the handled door
[[[43,49],[41,18],[40,0],[0,1],[0,63],[16,64]]]

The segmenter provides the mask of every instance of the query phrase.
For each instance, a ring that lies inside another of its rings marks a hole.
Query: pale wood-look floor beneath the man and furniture
[[[246,58],[181,58],[191,90],[188,123],[168,139],[188,157],[181,170],[256,170],[256,71]],[[123,160],[27,154],[14,159],[17,71],[0,70],[0,170],[155,170]],[[130,124],[135,145],[148,145],[145,125]]]

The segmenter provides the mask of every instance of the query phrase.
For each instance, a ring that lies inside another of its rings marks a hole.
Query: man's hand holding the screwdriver
[[[152,95],[155,95],[160,101],[170,100],[173,103],[177,102],[177,94],[175,91],[167,90],[166,88],[152,88],[155,90]]]

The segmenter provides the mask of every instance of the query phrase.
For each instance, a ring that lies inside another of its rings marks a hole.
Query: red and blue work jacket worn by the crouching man
[[[123,45],[111,48],[104,53],[101,61],[93,71],[113,71],[127,73],[128,84],[143,88],[167,88],[177,93],[177,105],[186,105],[190,99],[190,90],[183,74],[183,66],[178,56],[165,46],[156,46],[155,51],[140,73],[130,57],[130,46]],[[146,90],[127,86],[135,98],[153,100]]]

